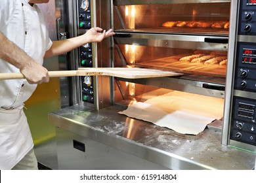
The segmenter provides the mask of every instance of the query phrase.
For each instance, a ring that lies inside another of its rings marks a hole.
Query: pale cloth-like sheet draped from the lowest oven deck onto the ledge
[[[131,118],[197,135],[213,120],[223,117],[224,99],[173,91],[130,105],[118,112]]]

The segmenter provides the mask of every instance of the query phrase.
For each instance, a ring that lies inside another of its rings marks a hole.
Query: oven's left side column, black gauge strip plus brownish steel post
[[[110,2],[100,0],[77,0],[74,11],[78,35],[86,33],[91,27],[110,29]],[[111,38],[102,42],[89,43],[78,49],[78,67],[111,67]],[[78,91],[79,104],[87,107],[100,108],[112,105],[110,84],[108,76],[81,76],[79,77]]]

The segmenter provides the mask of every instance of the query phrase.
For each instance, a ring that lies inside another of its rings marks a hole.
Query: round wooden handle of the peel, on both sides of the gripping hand
[[[64,76],[77,76],[77,71],[49,71],[50,78],[64,77]],[[22,73],[0,73],[0,80],[14,80],[25,78]]]

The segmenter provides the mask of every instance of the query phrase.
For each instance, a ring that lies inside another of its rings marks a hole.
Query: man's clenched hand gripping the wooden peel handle
[[[49,82],[48,70],[35,61],[29,61],[23,68],[20,68],[20,73],[30,84]]]

